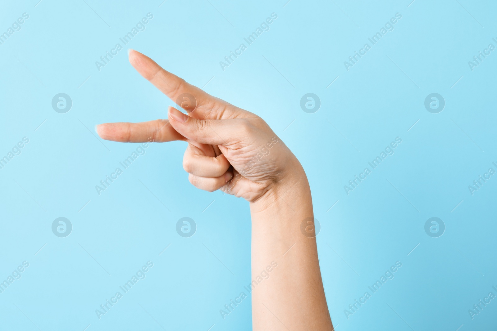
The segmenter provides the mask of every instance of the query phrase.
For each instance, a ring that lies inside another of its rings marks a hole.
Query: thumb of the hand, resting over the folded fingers
[[[233,135],[230,120],[198,120],[169,106],[169,124],[187,139],[210,145],[228,145]]]

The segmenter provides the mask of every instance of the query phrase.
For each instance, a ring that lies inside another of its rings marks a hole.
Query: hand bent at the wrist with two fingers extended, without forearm
[[[121,142],[188,142],[183,168],[195,187],[254,202],[275,184],[287,182],[301,169],[288,147],[260,117],[215,98],[164,70],[149,57],[130,50],[129,62],[169,99],[181,98],[188,115],[168,108],[168,120],[105,123],[103,139]],[[183,102],[183,100],[185,102]]]

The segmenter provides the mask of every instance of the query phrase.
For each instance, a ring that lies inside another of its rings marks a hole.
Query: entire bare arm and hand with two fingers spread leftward
[[[100,124],[100,137],[186,141],[183,168],[191,184],[209,192],[222,190],[250,204],[253,330],[333,330],[316,238],[312,231],[309,235],[301,230],[302,222],[314,214],[297,158],[257,115],[188,84],[137,51],[129,52],[129,62],[174,102],[187,96],[180,106],[188,115],[169,107],[168,120]],[[259,282],[264,270],[269,277]]]

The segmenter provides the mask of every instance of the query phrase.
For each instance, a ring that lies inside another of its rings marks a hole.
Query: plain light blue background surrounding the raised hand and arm
[[[0,33],[29,19],[0,45],[0,157],[29,143],[0,169],[0,281],[29,267],[0,293],[0,330],[251,329],[249,298],[219,313],[250,282],[248,203],[191,186],[184,143],[152,144],[96,193],[138,145],[96,138],[94,125],[166,118],[173,105],[129,65],[127,48],[258,114],[302,162],[337,330],[493,330],[496,300],[473,320],[468,310],[497,294],[497,179],[473,196],[468,185],[497,170],[497,54],[473,71],[468,61],[497,46],[496,3],[209,1],[2,2]],[[146,30],[98,71],[148,12]],[[223,71],[272,12],[270,30]],[[394,30],[347,71],[343,62],[397,12]],[[66,114],[51,107],[61,92],[73,100]],[[322,102],[314,114],[299,105],[308,92]],[[424,108],[433,92],[446,102],[438,114]],[[397,136],[395,154],[347,196],[343,186]],[[446,226],[439,238],[424,232],[434,216]],[[57,217],[73,224],[66,238],[52,233]],[[196,221],[194,236],[176,233],[181,217]],[[147,261],[146,278],[98,319]],[[396,261],[395,278],[347,319]]]

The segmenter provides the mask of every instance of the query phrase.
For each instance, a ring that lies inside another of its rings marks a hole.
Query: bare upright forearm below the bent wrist
[[[332,330],[316,238],[301,231],[314,214],[307,178],[296,163],[292,178],[250,203],[254,331]]]

